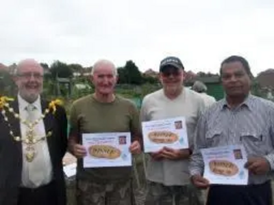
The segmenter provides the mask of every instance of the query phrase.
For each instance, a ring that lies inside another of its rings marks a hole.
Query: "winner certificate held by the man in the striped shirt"
[[[210,184],[247,184],[245,168],[247,154],[241,145],[201,149],[205,171],[203,177]]]

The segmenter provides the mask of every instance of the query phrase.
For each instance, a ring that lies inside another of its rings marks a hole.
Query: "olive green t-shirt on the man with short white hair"
[[[140,137],[139,113],[134,102],[116,96],[113,102],[99,102],[90,94],[73,102],[71,107],[71,132],[77,133],[82,143],[82,133],[130,132],[132,141]],[[84,168],[77,161],[77,178],[95,182],[129,180],[132,167]]]

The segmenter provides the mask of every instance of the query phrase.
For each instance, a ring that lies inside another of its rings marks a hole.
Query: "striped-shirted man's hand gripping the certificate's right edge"
[[[252,174],[260,175],[266,174],[271,170],[269,161],[264,157],[251,157],[247,160],[245,167],[249,169]]]

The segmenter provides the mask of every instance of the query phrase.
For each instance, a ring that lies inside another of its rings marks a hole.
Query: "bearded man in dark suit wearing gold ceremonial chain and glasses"
[[[0,204],[65,205],[66,113],[40,98],[43,68],[34,59],[18,64],[14,81],[18,96],[0,100]]]

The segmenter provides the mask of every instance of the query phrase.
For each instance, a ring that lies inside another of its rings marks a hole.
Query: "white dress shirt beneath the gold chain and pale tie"
[[[26,107],[29,105],[29,102],[25,101],[20,95],[18,95],[18,106],[19,106],[19,114],[23,120],[27,119],[27,110]],[[35,109],[35,118],[38,119],[42,115],[40,96],[38,99],[32,103]],[[22,139],[25,139],[25,133],[27,131],[27,126],[25,124],[20,123],[21,126],[21,135]],[[41,137],[45,137],[45,124],[43,120],[40,120],[38,124],[36,124],[34,131],[36,133],[36,139],[40,139]],[[34,144],[36,148],[36,155],[32,162],[28,162],[25,159],[25,143],[22,143],[23,147],[23,169],[22,169],[22,187],[28,188],[36,188],[40,187],[44,184],[48,184],[52,180],[52,165],[51,158],[49,156],[49,148],[47,145],[47,139],[38,141],[38,143]]]

